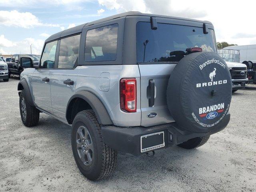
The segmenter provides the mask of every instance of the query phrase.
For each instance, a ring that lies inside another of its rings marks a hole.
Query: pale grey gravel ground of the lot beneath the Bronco
[[[17,84],[0,81],[0,191],[256,191],[256,85],[233,94],[230,123],[204,146],[119,153],[113,176],[91,182],[74,161],[70,126],[46,114],[22,124]]]

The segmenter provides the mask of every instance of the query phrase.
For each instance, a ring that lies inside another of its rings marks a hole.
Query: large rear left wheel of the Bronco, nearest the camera
[[[86,178],[99,180],[112,174],[117,163],[117,151],[103,142],[101,127],[93,110],[84,110],[76,115],[71,143],[76,164]]]

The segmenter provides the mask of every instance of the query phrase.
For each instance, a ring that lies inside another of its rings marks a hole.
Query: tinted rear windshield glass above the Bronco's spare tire
[[[157,30],[152,30],[149,22],[138,22],[137,62],[178,62],[190,47],[217,53],[214,30],[209,29],[208,34],[204,34],[200,27],[157,25]]]

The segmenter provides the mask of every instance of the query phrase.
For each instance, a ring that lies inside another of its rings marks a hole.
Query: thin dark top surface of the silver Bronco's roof
[[[99,20],[96,20],[96,21],[88,22],[88,23],[85,23],[85,24],[82,24],[82,25],[78,25],[78,26],[72,27],[70,29],[66,29],[64,31],[53,34],[52,36],[47,38],[45,40],[45,42],[53,41],[53,40],[56,40],[56,39],[59,39],[59,38],[65,37],[65,36],[80,33],[80,32],[82,32],[82,28],[84,28],[85,26],[98,24],[98,23],[101,23],[101,22],[105,22],[105,21],[108,21],[108,20],[112,20],[112,19],[116,19],[116,18],[120,18],[120,17],[124,17],[124,16],[151,16],[151,17],[153,16],[153,17],[172,18],[172,19],[180,19],[180,20],[188,20],[188,21],[212,24],[209,21],[200,21],[200,20],[194,20],[194,19],[188,19],[188,18],[180,18],[180,17],[164,16],[164,15],[156,15],[156,14],[146,14],[146,13],[141,13],[141,12],[138,12],[138,11],[128,11],[128,12],[116,14],[116,15],[113,15],[113,16],[109,16],[109,17],[106,17],[106,18],[102,18],[102,19],[99,19]]]

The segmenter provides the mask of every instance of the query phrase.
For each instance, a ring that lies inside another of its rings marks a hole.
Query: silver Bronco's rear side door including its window
[[[51,73],[51,98],[54,116],[66,121],[68,100],[75,93],[78,74],[80,34],[59,40],[58,62]]]

